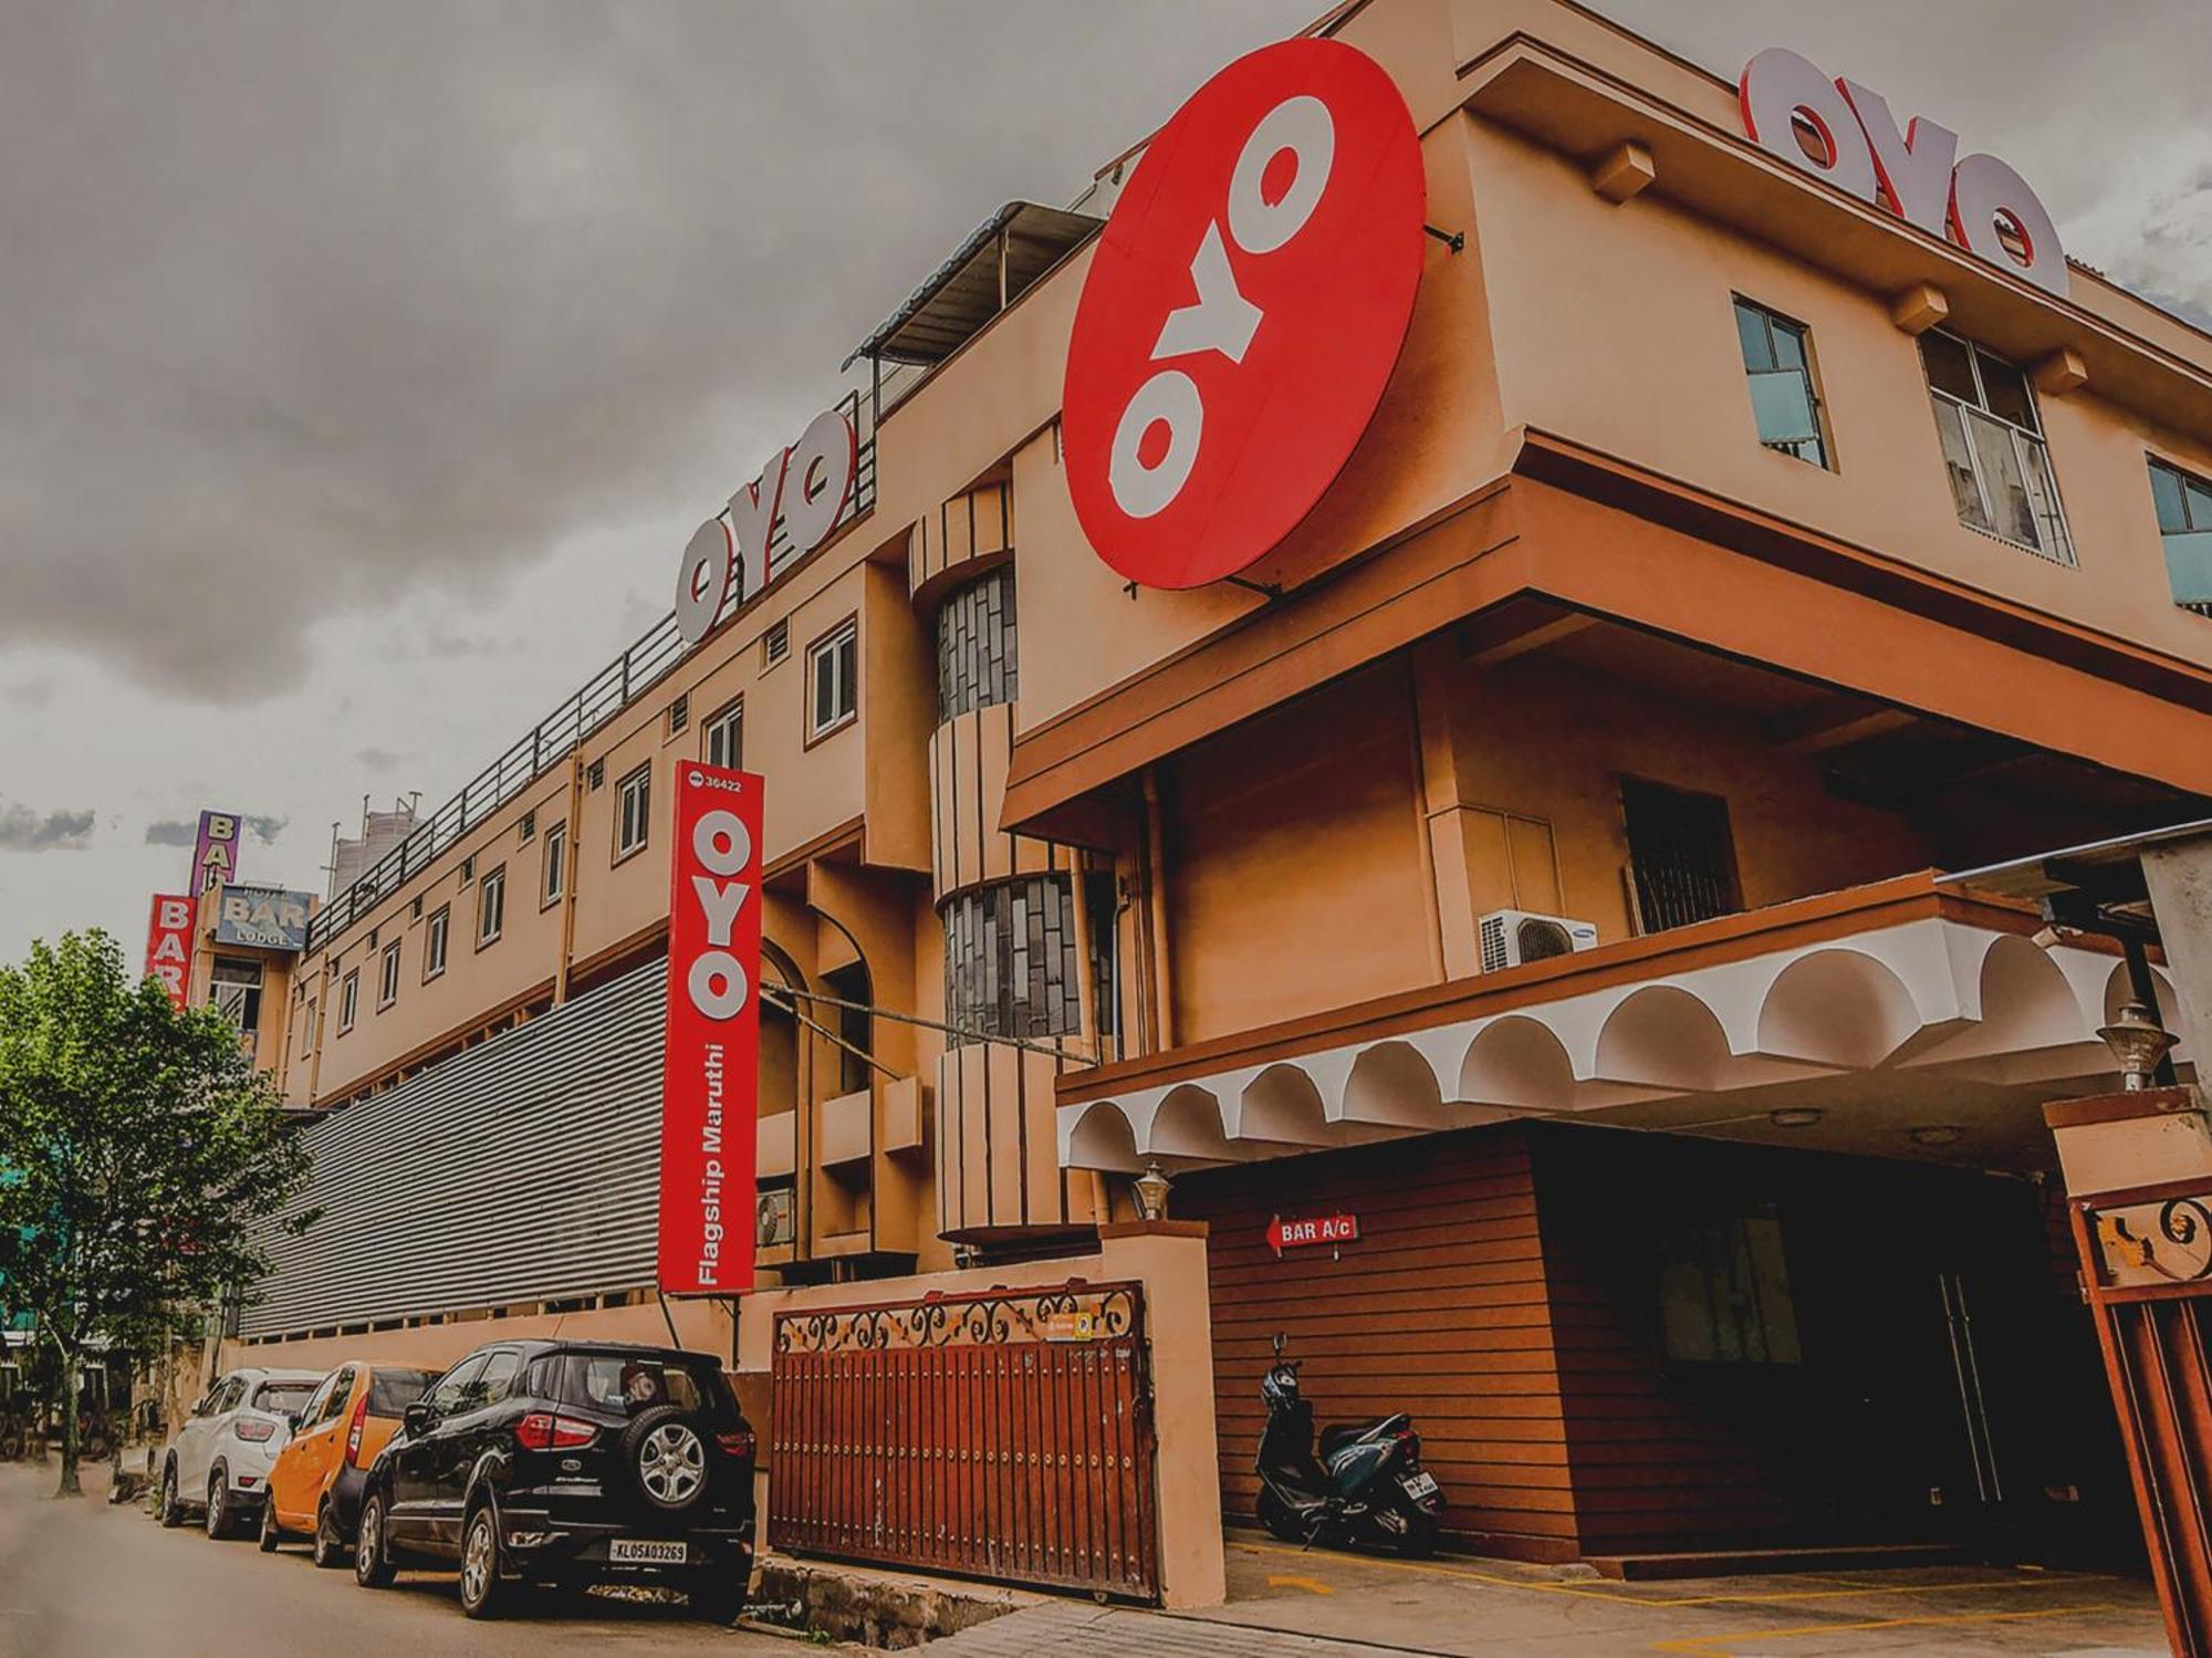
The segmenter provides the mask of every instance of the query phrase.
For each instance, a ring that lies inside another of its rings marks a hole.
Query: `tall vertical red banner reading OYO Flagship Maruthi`
[[[661,1066],[659,1287],[752,1289],[761,1061],[761,778],[677,767]]]

